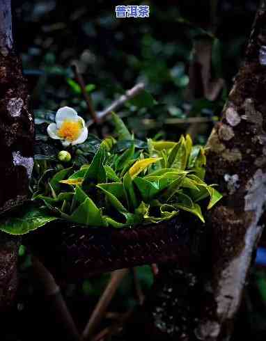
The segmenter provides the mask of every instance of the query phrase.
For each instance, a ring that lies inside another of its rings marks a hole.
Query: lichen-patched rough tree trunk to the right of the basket
[[[212,295],[198,325],[201,338],[230,335],[263,232],[259,220],[266,200],[265,44],[266,7],[261,1],[221,123],[208,141],[208,178],[219,184],[225,198],[209,219]]]

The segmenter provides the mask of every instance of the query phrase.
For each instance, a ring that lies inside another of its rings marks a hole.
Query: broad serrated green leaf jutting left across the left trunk
[[[0,219],[0,230],[10,235],[24,235],[56,219],[56,216],[47,214],[44,209],[29,207],[22,214]]]

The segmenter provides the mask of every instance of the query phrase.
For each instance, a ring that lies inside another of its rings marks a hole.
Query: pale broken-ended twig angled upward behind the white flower
[[[127,90],[125,95],[120,96],[117,100],[115,100],[109,106],[107,106],[106,109],[97,113],[98,122],[102,121],[112,111],[118,110],[121,106],[125,104],[125,102],[132,100],[132,98],[138,95],[139,93],[141,93],[141,91],[144,90],[144,88],[145,88],[144,84],[139,83],[139,84],[136,84],[134,88]],[[86,122],[86,126],[91,127],[93,123],[94,123],[93,120],[88,120],[88,122]]]

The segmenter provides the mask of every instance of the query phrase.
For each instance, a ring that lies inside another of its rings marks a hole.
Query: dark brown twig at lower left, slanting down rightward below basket
[[[45,295],[51,298],[54,315],[60,320],[60,324],[66,329],[70,339],[79,341],[79,332],[54,277],[37,257],[33,256],[32,265],[40,287],[42,287]]]

